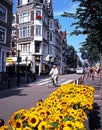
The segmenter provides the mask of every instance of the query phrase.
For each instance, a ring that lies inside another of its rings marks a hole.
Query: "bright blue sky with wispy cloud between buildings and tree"
[[[16,12],[16,3],[17,0],[13,0],[13,12]],[[61,30],[67,32],[67,43],[68,45],[72,45],[77,54],[80,56],[79,48],[81,47],[80,43],[85,41],[85,36],[70,36],[69,34],[74,30],[74,26],[70,26],[74,19],[69,19],[65,17],[61,17],[61,14],[65,12],[74,13],[76,11],[76,7],[78,7],[78,2],[72,2],[72,0],[52,0],[53,3],[53,14],[55,19],[59,19],[59,23],[61,24]]]

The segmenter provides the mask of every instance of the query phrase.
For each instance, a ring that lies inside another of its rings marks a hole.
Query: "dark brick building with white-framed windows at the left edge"
[[[10,51],[12,0],[0,1],[0,81],[6,72],[6,56]]]

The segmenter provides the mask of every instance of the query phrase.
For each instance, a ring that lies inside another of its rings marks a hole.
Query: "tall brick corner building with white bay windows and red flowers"
[[[60,68],[62,39],[59,21],[53,17],[52,1],[18,0],[15,19],[13,40],[17,45],[16,56],[20,50],[20,65],[31,64],[36,74],[48,73],[54,62]]]

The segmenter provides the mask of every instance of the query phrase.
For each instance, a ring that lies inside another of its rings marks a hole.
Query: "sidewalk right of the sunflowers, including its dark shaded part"
[[[100,97],[100,78],[94,78],[92,80],[89,78],[84,81],[85,85],[93,86],[95,88],[94,95],[94,110],[89,116],[89,126],[90,130],[102,130],[102,100]]]

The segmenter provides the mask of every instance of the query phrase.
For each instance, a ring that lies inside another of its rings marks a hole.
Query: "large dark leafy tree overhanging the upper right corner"
[[[89,49],[90,54],[92,53],[92,46],[98,48],[102,67],[102,0],[72,0],[72,2],[79,2],[75,14],[64,12],[62,16],[76,20],[72,23],[75,30],[71,35],[86,34],[87,39],[82,45],[91,48]],[[102,86],[102,76],[100,84]],[[102,98],[102,88],[100,95]]]

